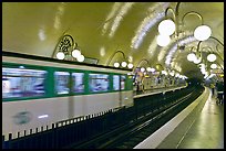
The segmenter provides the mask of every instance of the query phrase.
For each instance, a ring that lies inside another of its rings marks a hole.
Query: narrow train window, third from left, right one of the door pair
[[[84,93],[84,73],[73,73],[73,93]]]

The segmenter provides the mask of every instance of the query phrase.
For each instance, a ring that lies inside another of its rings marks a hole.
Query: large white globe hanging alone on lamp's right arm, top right
[[[205,41],[212,35],[212,30],[208,25],[199,25],[194,31],[194,36],[198,41]]]

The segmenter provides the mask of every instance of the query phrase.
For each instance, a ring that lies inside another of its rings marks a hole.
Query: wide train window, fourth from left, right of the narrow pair
[[[109,90],[109,75],[105,74],[90,74],[90,91],[107,91]]]

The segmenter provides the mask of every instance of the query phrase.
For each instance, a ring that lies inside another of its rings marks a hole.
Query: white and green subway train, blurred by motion
[[[130,72],[2,52],[2,134],[133,106]]]

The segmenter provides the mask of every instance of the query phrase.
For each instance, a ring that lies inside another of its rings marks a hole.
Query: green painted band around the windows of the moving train
[[[132,78],[125,74],[119,73],[106,73],[106,72],[96,72],[96,71],[84,71],[84,69],[72,69],[72,68],[63,68],[63,67],[52,67],[52,66],[39,66],[39,65],[28,65],[28,64],[17,64],[17,63],[2,63],[2,67],[16,67],[19,68],[20,66],[24,66],[28,69],[42,69],[47,71],[49,74],[47,76],[48,82],[44,83],[45,94],[43,96],[34,96],[34,97],[14,97],[14,98],[3,98],[2,101],[17,101],[17,100],[30,100],[30,99],[43,99],[43,98],[53,98],[53,97],[66,97],[66,96],[81,96],[81,95],[94,95],[94,94],[106,94],[106,93],[115,93],[119,90],[113,90],[113,75],[124,75],[126,77],[125,80],[125,89],[122,91],[129,91],[133,89],[133,82]],[[84,73],[84,93],[73,93],[70,89],[69,94],[58,95],[54,93],[54,72],[69,72],[70,73],[70,82],[72,73]],[[110,76],[110,89],[107,91],[96,91],[91,93],[89,89],[89,74],[106,74]]]

